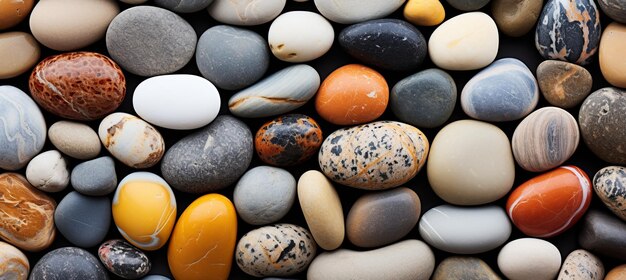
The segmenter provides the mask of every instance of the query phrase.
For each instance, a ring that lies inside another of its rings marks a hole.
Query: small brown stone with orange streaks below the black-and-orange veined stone
[[[545,60],[537,67],[537,82],[548,103],[572,108],[591,93],[593,78],[584,67],[560,60]]]

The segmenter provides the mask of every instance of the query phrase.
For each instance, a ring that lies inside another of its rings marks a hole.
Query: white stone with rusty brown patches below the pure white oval
[[[98,136],[111,155],[132,168],[152,167],[165,152],[161,133],[127,113],[113,113],[104,118],[98,127]]]

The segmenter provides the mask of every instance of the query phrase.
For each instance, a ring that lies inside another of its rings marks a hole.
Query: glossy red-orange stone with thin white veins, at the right
[[[523,233],[552,237],[572,227],[589,208],[591,181],[575,166],[561,166],[516,188],[506,203],[509,218]]]

